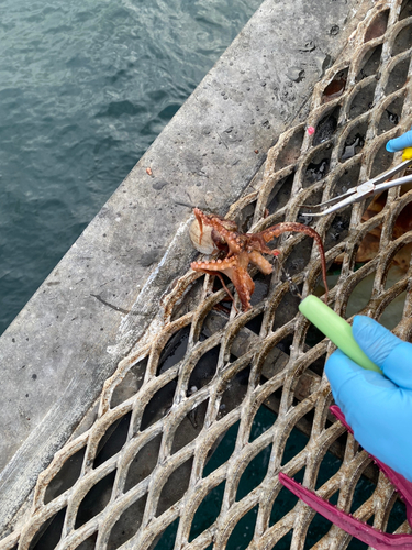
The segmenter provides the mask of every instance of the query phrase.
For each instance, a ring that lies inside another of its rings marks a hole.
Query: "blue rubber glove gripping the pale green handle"
[[[353,334],[385,376],[335,351],[325,367],[335,402],[364,449],[412,482],[412,344],[369,317],[355,317]]]

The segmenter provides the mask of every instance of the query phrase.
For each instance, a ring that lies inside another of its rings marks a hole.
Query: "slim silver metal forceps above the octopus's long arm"
[[[412,182],[412,174],[388,182],[388,178],[394,176],[399,172],[402,172],[404,168],[408,168],[408,166],[410,166],[411,164],[412,158],[409,158],[407,161],[403,161],[401,164],[398,164],[393,168],[389,168],[389,170],[383,172],[383,174],[380,174],[372,179],[368,179],[368,182],[365,182],[357,187],[350,187],[350,189],[348,189],[343,195],[339,195],[338,197],[334,197],[333,199],[321,202],[320,205],[304,205],[304,207],[311,211],[302,212],[302,216],[325,216],[326,213],[341,210],[341,208],[352,205],[353,202],[359,202],[367,197],[377,195],[378,193],[390,189],[391,187]]]

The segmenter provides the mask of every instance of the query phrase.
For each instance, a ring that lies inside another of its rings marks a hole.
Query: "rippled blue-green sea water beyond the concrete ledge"
[[[0,0],[0,334],[261,0]]]

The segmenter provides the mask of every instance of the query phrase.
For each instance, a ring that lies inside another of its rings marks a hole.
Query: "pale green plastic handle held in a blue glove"
[[[368,371],[382,374],[382,371],[359,348],[352,334],[350,324],[316,296],[307,296],[300,302],[299,310],[355,363]]]

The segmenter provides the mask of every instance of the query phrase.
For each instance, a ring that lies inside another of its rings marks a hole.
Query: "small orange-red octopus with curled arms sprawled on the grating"
[[[205,215],[199,208],[194,208],[193,212],[198,229],[196,231],[191,230],[191,239],[196,248],[204,253],[220,251],[224,253],[225,256],[208,262],[192,262],[190,267],[197,272],[216,275],[227,295],[233,300],[233,296],[226,287],[221,274],[223,273],[226,275],[232,280],[237,292],[243,311],[247,311],[252,308],[250,296],[255,289],[255,283],[248,273],[249,264],[255,265],[265,275],[269,275],[274,267],[264,254],[278,256],[280,251],[278,249],[269,249],[267,243],[281,233],[289,231],[305,233],[316,242],[321,256],[323,283],[326,289],[325,301],[327,301],[325,254],[322,239],[314,229],[303,223],[281,222],[259,233],[241,233],[237,230],[236,223],[232,220],[225,220],[213,213]],[[194,235],[193,232],[196,233]],[[208,243],[205,242],[207,240],[209,241]]]

